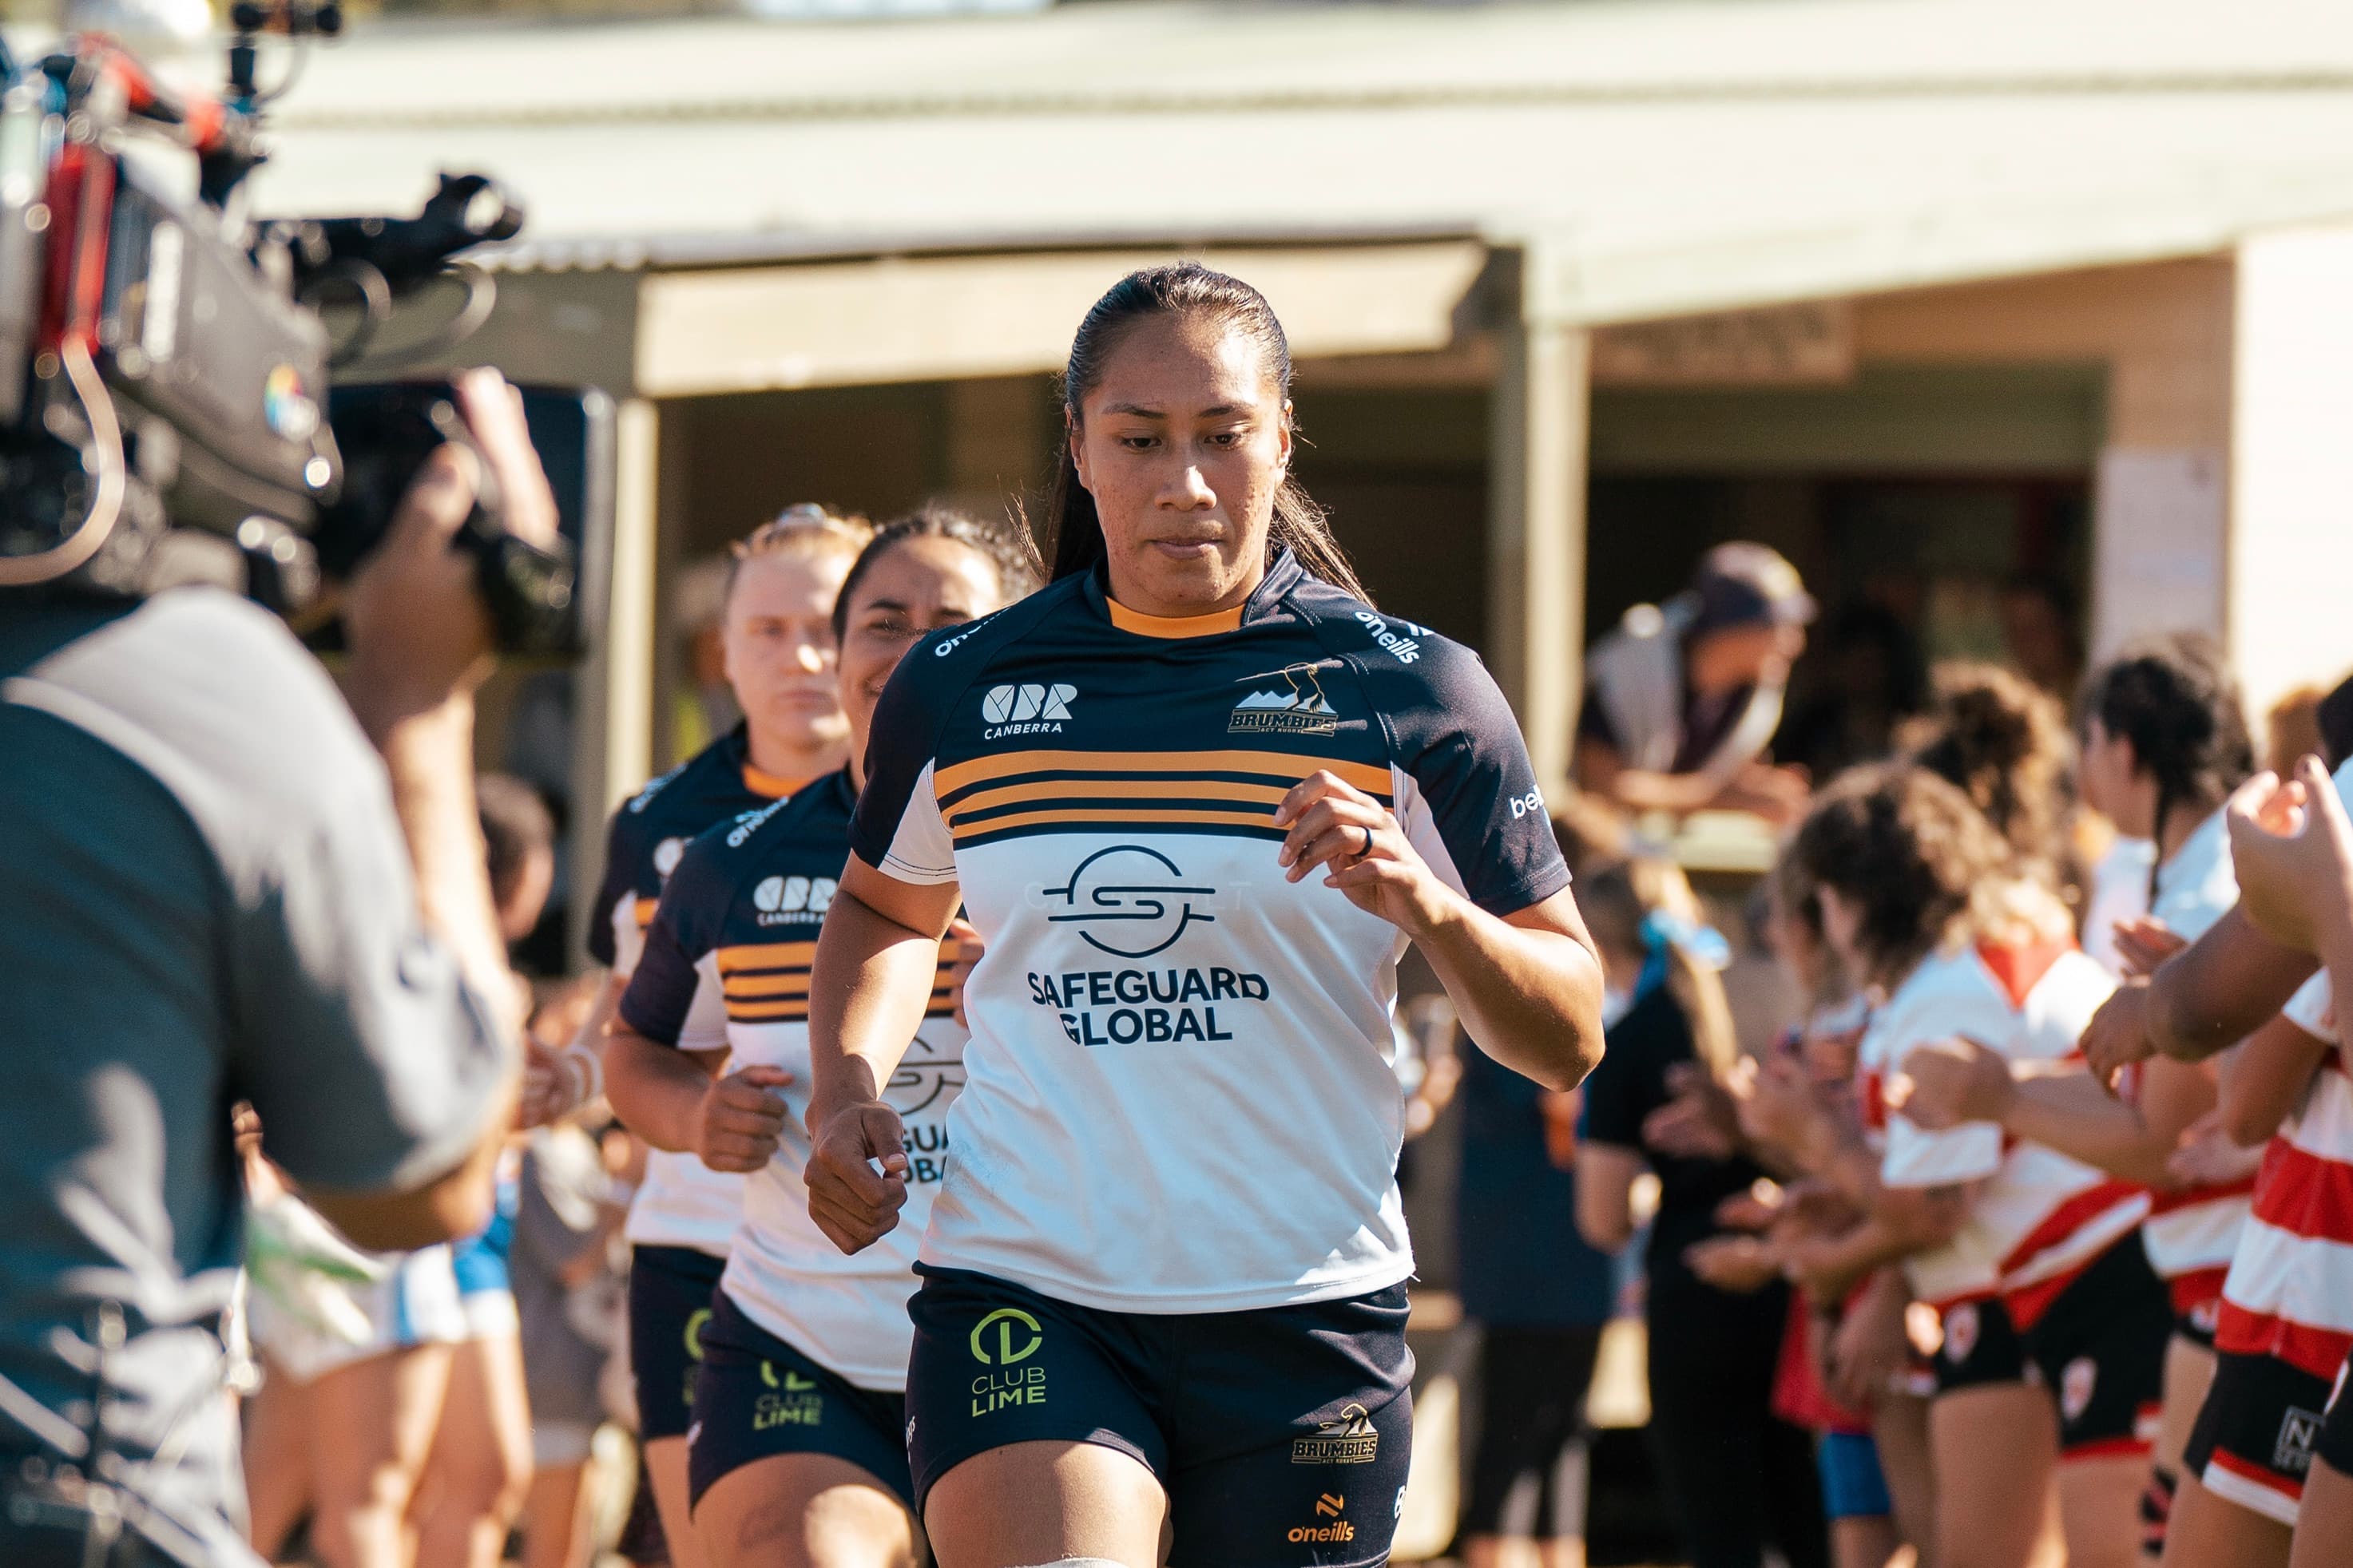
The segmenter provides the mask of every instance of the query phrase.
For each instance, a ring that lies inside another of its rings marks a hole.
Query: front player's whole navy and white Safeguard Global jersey
[[[1494,914],[1569,882],[1478,656],[1282,552],[1162,621],[1101,574],[925,639],[875,717],[852,849],[958,882],[986,950],[922,1260],[1113,1312],[1412,1274],[1391,1072],[1405,936],[1275,865],[1329,769]]]

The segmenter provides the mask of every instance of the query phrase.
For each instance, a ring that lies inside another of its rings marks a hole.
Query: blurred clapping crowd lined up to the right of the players
[[[2078,675],[2014,597],[2038,656],[1920,677],[1901,625],[1835,616],[1849,701],[1795,712],[1814,602],[1760,545],[1593,649],[1555,827],[1607,1053],[1569,1093],[1464,1074],[1468,1563],[1584,1561],[1562,1460],[1628,1246],[1685,1561],[2353,1554],[2344,1060],[2325,976],[2289,999],[2313,954],[2259,973],[2238,910],[2249,853],[2325,865],[2306,759],[2353,748],[2353,682],[2282,701],[2259,757],[2212,639]],[[1769,875],[1697,896],[1694,811],[1767,818]],[[1741,1041],[1751,947],[1798,1006]],[[2167,1037],[2184,1011],[2200,1039]]]

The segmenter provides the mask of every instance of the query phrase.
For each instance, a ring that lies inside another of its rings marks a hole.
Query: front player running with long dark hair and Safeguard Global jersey
[[[1395,959],[1565,1088],[1600,966],[1461,646],[1374,614],[1287,477],[1254,289],[1134,273],[1064,386],[1054,583],[875,715],[809,994],[809,1213],[899,1222],[882,1086],[958,903],[986,938],[908,1314],[944,1568],[1386,1561],[1409,1448]],[[868,1166],[880,1161],[880,1168]]]

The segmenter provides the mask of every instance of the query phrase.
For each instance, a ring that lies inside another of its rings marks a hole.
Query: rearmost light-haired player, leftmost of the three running
[[[588,929],[588,947],[612,969],[612,980],[558,1070],[539,1077],[536,1105],[525,1091],[527,1126],[593,1100],[605,1070],[628,1070],[607,1060],[605,1023],[638,969],[661,884],[694,835],[842,764],[849,724],[833,679],[833,597],[868,538],[864,522],[793,505],[734,545],[720,637],[744,724],[614,811],[595,905],[602,919]],[[739,1175],[711,1171],[692,1154],[659,1152],[647,1159],[628,1211],[628,1359],[638,1380],[638,1429],[678,1568],[701,1568],[687,1523],[696,1316],[711,1305],[741,1213]]]

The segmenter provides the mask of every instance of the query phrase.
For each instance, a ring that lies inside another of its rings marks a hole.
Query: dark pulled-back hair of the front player
[[[1282,336],[1266,296],[1240,277],[1212,273],[1198,261],[1144,268],[1111,284],[1104,299],[1094,301],[1087,320],[1078,324],[1071,341],[1071,362],[1061,374],[1061,407],[1075,425],[1087,393],[1104,378],[1104,360],[1134,322],[1148,315],[1200,315],[1221,322],[1228,331],[1240,331],[1266,355],[1266,374],[1275,383],[1280,402],[1292,395],[1292,346]],[[1332,538],[1332,522],[1299,487],[1299,480],[1282,475],[1275,489],[1275,517],[1268,529],[1271,545],[1289,545],[1308,576],[1332,583],[1351,597],[1372,602],[1355,576],[1355,567]],[[1078,463],[1071,461],[1071,442],[1061,442],[1061,461],[1054,465],[1054,487],[1045,505],[1045,548],[1054,581],[1092,571],[1104,559],[1104,522],[1094,515],[1094,496],[1078,482]]]

